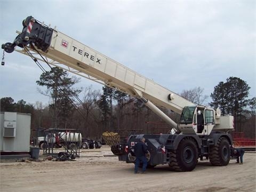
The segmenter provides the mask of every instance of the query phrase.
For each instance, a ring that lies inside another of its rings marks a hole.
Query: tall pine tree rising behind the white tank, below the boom
[[[75,109],[73,98],[81,92],[80,89],[72,88],[78,82],[78,78],[68,77],[67,71],[58,67],[41,74],[40,80],[36,81],[38,85],[47,87],[47,90],[41,93],[52,99],[49,107],[52,111],[52,125],[55,128],[66,128],[68,119]]]

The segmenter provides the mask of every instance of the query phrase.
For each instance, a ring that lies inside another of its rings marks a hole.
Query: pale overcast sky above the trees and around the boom
[[[256,1],[0,0],[0,9],[1,44],[32,15],[173,92],[201,86],[210,95],[233,76],[256,95]],[[41,73],[26,55],[5,53],[0,98],[47,104],[37,91]],[[102,87],[85,78],[77,86],[89,85]]]

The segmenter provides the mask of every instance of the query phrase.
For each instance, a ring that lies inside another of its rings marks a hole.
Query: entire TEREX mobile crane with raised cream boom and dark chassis
[[[144,137],[150,154],[148,165],[152,167],[169,164],[171,170],[192,171],[198,158],[203,157],[212,165],[229,163],[233,140],[228,132],[234,129],[233,116],[221,116],[219,109],[196,105],[31,16],[22,25],[14,42],[2,45],[5,52],[18,51],[34,61],[47,62],[130,94],[173,127],[170,134],[131,135],[127,143],[112,146],[119,161],[133,163],[133,147]],[[175,123],[156,105],[180,114],[180,122]]]

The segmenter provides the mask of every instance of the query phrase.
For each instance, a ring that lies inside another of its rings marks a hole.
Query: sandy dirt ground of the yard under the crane
[[[41,151],[42,153],[42,151]],[[244,164],[230,160],[214,167],[198,162],[191,172],[173,172],[168,165],[134,174],[133,164],[119,162],[110,148],[82,149],[66,162],[2,162],[1,191],[256,191],[256,154],[245,153]],[[43,158],[43,156],[40,156]]]

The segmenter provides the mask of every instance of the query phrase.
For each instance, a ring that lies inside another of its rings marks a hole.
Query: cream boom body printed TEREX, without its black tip
[[[180,95],[167,90],[135,71],[79,43],[67,35],[54,31],[50,47],[43,55],[135,97],[145,97],[156,105],[181,114],[183,107],[194,105]],[[141,93],[141,95],[139,95]],[[170,96],[169,96],[170,95]],[[170,99],[169,99],[170,98]]]

